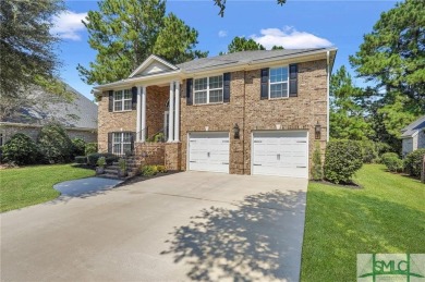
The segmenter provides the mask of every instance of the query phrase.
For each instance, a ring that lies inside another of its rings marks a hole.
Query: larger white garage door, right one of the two
[[[307,132],[254,132],[253,174],[308,177]]]

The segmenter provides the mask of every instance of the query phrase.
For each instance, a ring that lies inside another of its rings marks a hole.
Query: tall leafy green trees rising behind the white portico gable
[[[97,51],[88,69],[77,66],[88,84],[127,77],[154,50],[174,62],[205,56],[192,50],[197,44],[197,32],[173,14],[166,16],[163,0],[105,0],[98,7],[99,11],[89,11],[83,21],[88,44]],[[170,42],[165,41],[167,36]]]

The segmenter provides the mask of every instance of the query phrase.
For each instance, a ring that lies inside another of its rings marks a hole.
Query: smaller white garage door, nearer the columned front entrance
[[[203,132],[189,136],[189,170],[229,173],[229,133]]]

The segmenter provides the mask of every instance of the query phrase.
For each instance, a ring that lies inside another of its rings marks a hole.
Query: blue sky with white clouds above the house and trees
[[[275,0],[228,0],[224,17],[220,17],[212,0],[169,0],[167,12],[173,12],[198,30],[197,48],[208,50],[209,56],[226,51],[234,36],[254,38],[266,47],[282,45],[287,49],[335,46],[338,48],[336,71],[342,64],[349,66],[349,56],[357,51],[363,35],[372,30],[381,12],[394,4],[390,0],[288,0],[280,7]],[[66,5],[69,12],[56,20],[53,29],[62,37],[57,50],[63,62],[60,75],[94,99],[93,86],[82,82],[76,66],[78,63],[88,66],[96,57],[87,44],[81,19],[87,11],[97,10],[97,2],[69,0]]]

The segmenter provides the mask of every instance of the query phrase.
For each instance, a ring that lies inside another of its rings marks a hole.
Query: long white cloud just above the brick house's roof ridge
[[[282,29],[279,28],[265,28],[262,29],[260,35],[252,35],[256,42],[271,49],[271,47],[283,46],[286,49],[298,48],[320,48],[329,47],[332,44],[326,38],[315,36],[306,32],[299,32],[292,26],[286,26]]]

